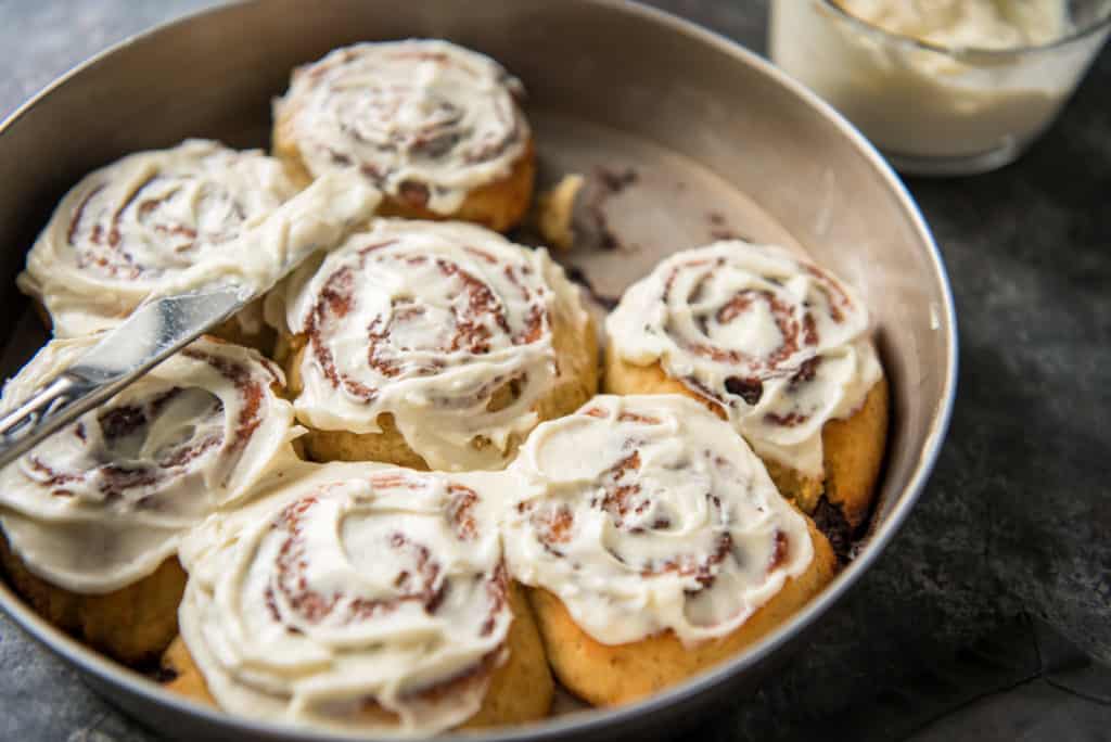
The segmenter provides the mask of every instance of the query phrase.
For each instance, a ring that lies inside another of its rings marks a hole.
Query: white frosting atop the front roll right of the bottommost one
[[[509,472],[510,570],[604,644],[723,636],[813,556],[805,520],[729,425],[678,394],[595,397]]]

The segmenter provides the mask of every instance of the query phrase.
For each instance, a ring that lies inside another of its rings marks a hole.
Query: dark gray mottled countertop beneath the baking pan
[[[212,4],[0,0],[0,113],[106,46]],[[763,0],[654,4],[763,50]],[[1111,739],[1108,90],[1111,51],[1019,163],[909,181],[957,297],[949,440],[900,537],[810,648],[701,738]],[[0,739],[152,738],[0,615]]]

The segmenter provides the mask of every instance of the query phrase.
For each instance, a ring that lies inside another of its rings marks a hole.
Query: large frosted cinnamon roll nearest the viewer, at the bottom
[[[210,519],[182,549],[171,688],[372,735],[542,718],[552,680],[490,477],[331,463]]]

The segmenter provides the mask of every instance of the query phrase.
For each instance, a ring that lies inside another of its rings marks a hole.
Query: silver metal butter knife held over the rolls
[[[250,290],[229,285],[164,297],[139,307],[77,363],[0,419],[0,467],[108,401],[252,298]]]

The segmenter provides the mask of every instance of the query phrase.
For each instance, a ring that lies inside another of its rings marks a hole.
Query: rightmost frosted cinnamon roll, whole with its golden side
[[[849,285],[782,248],[717,242],[661,262],[605,327],[607,391],[692,397],[804,511],[831,503],[850,528],[867,518],[888,389]]]

